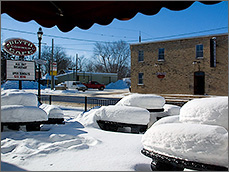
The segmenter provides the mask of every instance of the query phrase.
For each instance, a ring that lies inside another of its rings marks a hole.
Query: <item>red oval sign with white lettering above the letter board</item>
[[[3,49],[12,55],[29,56],[37,51],[36,46],[25,39],[10,38],[3,43]]]

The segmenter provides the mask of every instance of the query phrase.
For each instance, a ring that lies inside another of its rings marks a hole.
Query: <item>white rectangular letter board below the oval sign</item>
[[[35,80],[35,63],[33,61],[6,61],[7,80]]]

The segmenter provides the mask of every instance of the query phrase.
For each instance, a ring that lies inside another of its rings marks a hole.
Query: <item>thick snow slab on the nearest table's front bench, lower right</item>
[[[145,149],[163,155],[228,166],[228,132],[221,126],[175,123],[153,125],[142,137]]]

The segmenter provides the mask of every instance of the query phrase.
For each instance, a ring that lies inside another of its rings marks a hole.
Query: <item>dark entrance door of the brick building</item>
[[[194,94],[204,95],[205,92],[205,73],[198,71],[194,72]]]

